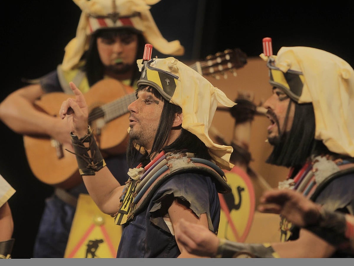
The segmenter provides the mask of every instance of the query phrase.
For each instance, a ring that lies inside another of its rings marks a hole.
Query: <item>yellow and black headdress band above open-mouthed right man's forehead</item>
[[[273,57],[269,57],[267,67],[269,68],[269,83],[282,89],[292,100],[298,102],[304,86],[304,75],[296,70],[282,72],[274,65]]]

